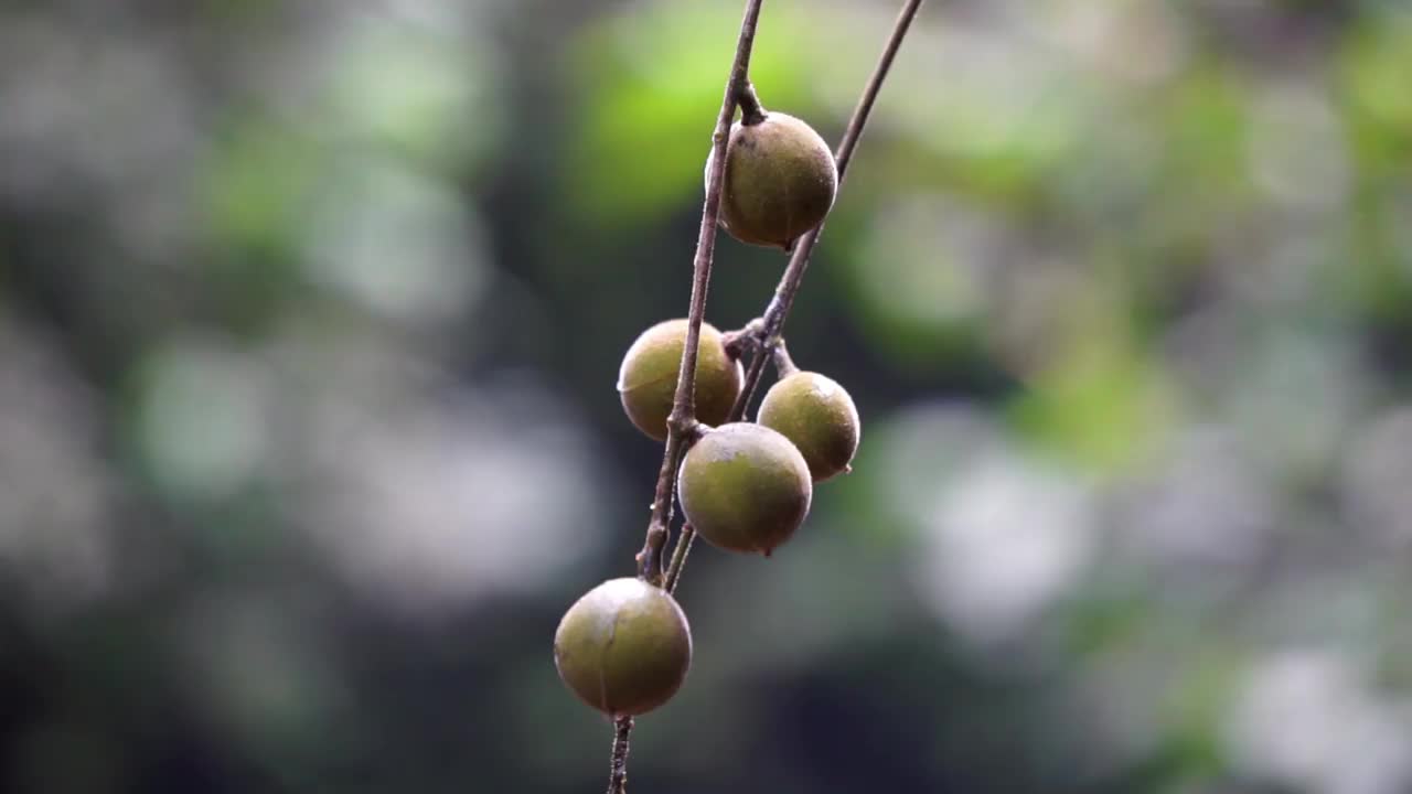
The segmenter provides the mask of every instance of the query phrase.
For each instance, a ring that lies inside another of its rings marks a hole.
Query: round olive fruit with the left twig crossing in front
[[[627,418],[657,441],[666,441],[666,417],[672,413],[685,346],[686,321],[662,321],[633,342],[618,367],[617,389]],[[720,331],[703,322],[696,353],[696,418],[707,425],[724,422],[743,381],[740,362],[726,355]]]

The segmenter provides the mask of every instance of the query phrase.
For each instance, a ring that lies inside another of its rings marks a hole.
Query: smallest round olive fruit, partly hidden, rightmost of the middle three
[[[861,425],[853,397],[816,372],[796,372],[770,387],[755,418],[799,448],[813,482],[847,472],[858,451]]]

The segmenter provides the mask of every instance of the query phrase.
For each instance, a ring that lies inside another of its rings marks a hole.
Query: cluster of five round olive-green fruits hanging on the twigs
[[[740,240],[789,250],[823,222],[836,191],[833,155],[803,122],[758,113],[731,127],[720,220]],[[618,370],[623,410],[657,441],[668,437],[686,328],[685,319],[648,328]],[[676,493],[686,521],[717,548],[768,557],[809,514],[813,485],[847,472],[858,448],[858,413],[849,393],[781,360],[781,379],[757,422],[733,422],[744,387],[738,350],[702,324],[695,380],[700,424],[678,469]],[[610,579],[565,613],[554,656],[559,677],[583,702],[611,718],[635,716],[681,687],[692,637],[665,589]]]

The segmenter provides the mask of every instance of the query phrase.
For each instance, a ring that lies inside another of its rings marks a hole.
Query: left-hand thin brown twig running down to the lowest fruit
[[[672,523],[672,494],[676,485],[676,466],[681,463],[686,442],[696,427],[696,352],[700,345],[702,316],[706,314],[706,292],[710,288],[712,259],[716,254],[716,223],[720,218],[720,191],[726,178],[726,140],[730,136],[730,122],[736,116],[740,92],[750,79],[750,49],[755,44],[755,23],[764,0],[747,0],[746,17],[740,23],[740,38],[736,41],[736,61],[726,81],[726,96],[716,116],[716,131],[712,133],[710,167],[706,170],[706,199],[702,206],[702,226],[696,236],[696,257],[692,263],[692,302],[686,315],[686,345],[682,348],[682,369],[676,376],[676,394],[672,413],[666,417],[666,449],[662,455],[662,469],[657,476],[657,493],[652,499],[652,520],[647,526],[647,540],[637,555],[638,576],[661,586],[662,550],[666,547],[668,527]]]

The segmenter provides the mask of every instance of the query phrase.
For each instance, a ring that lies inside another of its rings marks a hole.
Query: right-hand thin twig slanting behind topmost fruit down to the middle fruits
[[[892,69],[892,61],[897,59],[897,52],[902,47],[902,40],[907,38],[907,31],[912,27],[912,20],[916,18],[916,11],[921,7],[922,0],[907,0],[902,4],[902,10],[898,13],[897,21],[892,24],[892,34],[888,37],[887,45],[882,48],[882,55],[878,57],[877,66],[874,66],[873,75],[863,88],[863,96],[858,97],[858,105],[853,109],[849,126],[843,131],[843,140],[839,141],[839,150],[833,155],[839,167],[839,189],[843,189],[843,177],[849,170],[849,162],[853,160],[853,153],[858,147],[858,138],[863,137],[863,129],[868,123],[868,116],[873,113],[873,106],[877,103],[878,93],[882,90],[882,82],[887,79],[887,73]],[[767,353],[774,350],[774,348],[781,343],[779,333],[784,331],[785,319],[789,316],[791,307],[794,307],[795,295],[799,294],[799,285],[803,283],[805,270],[809,268],[809,256],[813,253],[813,246],[819,242],[819,235],[822,233],[823,223],[819,223],[812,230],[805,232],[795,242],[794,254],[789,257],[789,266],[785,267],[784,275],[779,277],[779,285],[775,287],[775,295],[770,300],[765,314],[761,315],[765,322],[758,335],[760,349],[750,360],[750,369],[746,370],[744,387],[740,390],[740,397],[736,398],[736,404],[730,410],[729,421],[740,421],[746,415],[750,401],[755,397],[755,389],[760,387],[760,377],[765,370],[765,360],[771,357]]]

